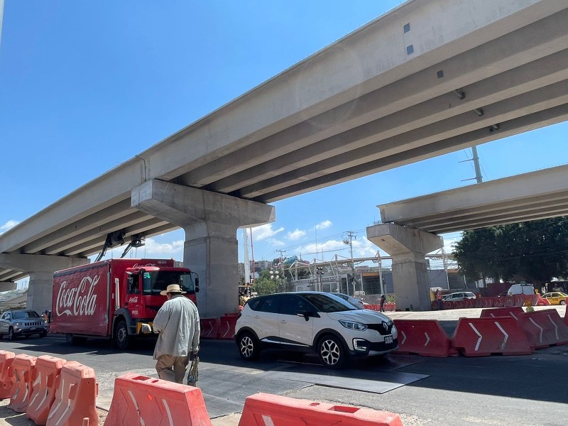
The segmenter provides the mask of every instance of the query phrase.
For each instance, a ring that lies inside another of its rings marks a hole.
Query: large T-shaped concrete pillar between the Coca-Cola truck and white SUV
[[[183,265],[199,274],[202,317],[236,312],[239,251],[236,229],[274,222],[274,207],[161,180],[132,190],[132,207],[185,230]]]

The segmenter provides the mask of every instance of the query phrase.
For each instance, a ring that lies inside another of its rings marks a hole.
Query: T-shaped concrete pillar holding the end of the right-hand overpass
[[[430,310],[430,277],[425,254],[441,249],[441,236],[397,224],[367,227],[367,239],[393,258],[397,309]]]

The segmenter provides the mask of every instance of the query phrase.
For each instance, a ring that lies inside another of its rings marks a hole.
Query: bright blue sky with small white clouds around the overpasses
[[[0,233],[400,3],[6,0]],[[484,179],[566,163],[567,135],[559,124],[479,146]],[[312,260],[316,239],[318,258],[348,257],[346,231],[357,234],[354,256],[374,256],[364,236],[376,205],[470,185],[468,158],[458,151],[276,202],[276,222],[253,230],[254,258]],[[180,260],[183,239],[157,236],[133,255]]]

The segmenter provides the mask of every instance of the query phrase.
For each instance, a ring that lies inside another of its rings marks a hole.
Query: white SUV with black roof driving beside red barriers
[[[236,322],[235,339],[246,360],[270,347],[317,352],[329,368],[342,367],[350,356],[398,349],[398,332],[389,317],[316,291],[253,297]]]

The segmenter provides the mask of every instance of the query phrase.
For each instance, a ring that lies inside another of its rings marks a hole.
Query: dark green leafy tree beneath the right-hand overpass
[[[568,217],[464,231],[454,258],[468,278],[527,280],[540,287],[568,273]]]

